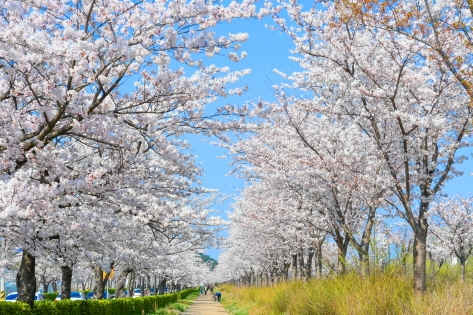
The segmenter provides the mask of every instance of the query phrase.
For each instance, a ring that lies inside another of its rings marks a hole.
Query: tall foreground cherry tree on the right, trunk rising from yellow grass
[[[458,150],[468,145],[470,96],[445,63],[422,42],[324,10],[285,8],[297,27],[275,17],[296,45],[304,71],[287,76],[309,97],[287,98],[354,126],[376,147],[394,198],[391,206],[414,232],[414,287],[426,289],[427,211],[456,175]],[[311,97],[313,96],[313,97]]]

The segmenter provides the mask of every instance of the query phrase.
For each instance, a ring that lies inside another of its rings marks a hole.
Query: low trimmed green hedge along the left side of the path
[[[187,291],[113,300],[43,301],[35,303],[33,312],[25,303],[0,302],[0,315],[142,315],[143,311],[148,314],[177,302],[183,294],[187,296],[191,293]]]

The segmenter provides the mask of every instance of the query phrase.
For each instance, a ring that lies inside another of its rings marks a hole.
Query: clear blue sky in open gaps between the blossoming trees
[[[249,90],[240,97],[231,97],[228,99],[220,99],[216,102],[216,106],[222,106],[227,103],[242,105],[245,102],[256,101],[259,97],[265,101],[275,100],[272,84],[280,84],[283,78],[274,73],[277,68],[283,72],[289,73],[291,70],[298,70],[298,65],[290,61],[290,50],[294,47],[292,41],[285,34],[279,34],[277,31],[271,31],[265,27],[265,23],[270,24],[271,20],[239,20],[233,21],[229,24],[224,24],[218,27],[220,33],[249,33],[250,38],[246,43],[242,44],[240,51],[246,51],[248,57],[238,63],[226,61],[223,58],[211,59],[212,63],[219,66],[228,65],[231,70],[242,70],[250,68],[251,74],[243,77],[236,85],[248,85]],[[186,137],[187,138],[187,137]],[[226,155],[224,149],[211,145],[206,141],[212,139],[205,139],[202,136],[190,136],[187,139],[193,146],[193,154],[197,156],[198,163],[204,170],[205,176],[202,177],[204,187],[216,188],[223,194],[235,196],[238,195],[238,190],[244,187],[242,179],[227,176],[231,167],[228,159],[218,159],[218,156]],[[473,170],[472,159],[466,161],[458,167],[459,170],[464,171],[464,175],[451,180],[445,187],[445,193],[449,196],[455,194],[470,195]],[[231,210],[231,203],[233,199],[228,199],[225,203],[218,205],[216,208],[221,211],[221,215],[225,216],[225,212]],[[217,259],[220,254],[218,249],[209,249],[206,252],[211,257]]]

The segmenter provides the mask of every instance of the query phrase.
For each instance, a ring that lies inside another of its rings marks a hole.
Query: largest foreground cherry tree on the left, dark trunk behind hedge
[[[166,184],[159,186],[156,179],[149,188],[161,191],[161,200],[182,192],[183,184],[189,187],[196,168],[180,152],[183,143],[177,137],[227,128],[212,120],[215,114],[205,112],[205,106],[233,93],[226,84],[247,73],[206,66],[198,54],[237,50],[246,34],[219,36],[212,27],[256,16],[252,1],[228,6],[204,1],[3,1],[0,191],[5,220],[0,225],[25,236],[18,241],[23,249],[19,300],[33,306],[35,259],[43,242],[60,236],[45,231],[46,225],[64,226],[56,219],[67,214],[59,213],[96,203],[104,190],[114,190],[113,180],[130,180],[124,176],[130,171],[127,164],[136,161],[133,168],[139,168],[139,162],[154,161],[154,172],[168,177]],[[238,61],[245,53],[230,51],[227,56]],[[189,68],[195,72],[186,73]],[[89,164],[81,163],[87,158]],[[87,174],[81,174],[85,165]],[[165,192],[171,196],[163,196]],[[125,212],[140,209],[133,204],[139,198],[130,198],[135,193],[122,194]],[[82,199],[79,206],[76,199]],[[81,220],[75,224],[86,229]]]

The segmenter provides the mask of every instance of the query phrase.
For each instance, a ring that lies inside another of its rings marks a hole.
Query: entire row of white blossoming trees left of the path
[[[246,72],[200,55],[238,61],[247,35],[212,27],[257,17],[252,1],[0,3],[0,237],[22,251],[19,300],[33,305],[46,260],[64,298],[83,263],[97,298],[112,268],[119,288],[132,271],[191,274],[219,220],[181,136],[235,124],[205,108]]]

